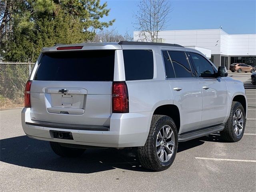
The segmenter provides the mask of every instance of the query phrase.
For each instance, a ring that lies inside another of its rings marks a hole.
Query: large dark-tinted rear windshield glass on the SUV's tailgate
[[[113,81],[115,50],[44,53],[34,80]]]

